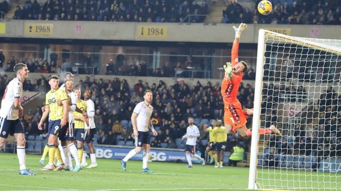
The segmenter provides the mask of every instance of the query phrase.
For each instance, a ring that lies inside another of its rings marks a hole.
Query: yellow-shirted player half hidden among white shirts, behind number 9
[[[81,88],[75,88],[73,92],[77,96],[77,107],[84,112],[87,112],[87,103],[84,100],[81,100]],[[74,138],[77,141],[77,151],[78,151],[78,158],[79,162],[81,162],[81,166],[84,165],[85,161],[83,161],[82,165],[82,158],[83,158],[83,144],[85,139],[85,127],[88,123],[87,119],[83,116],[83,114],[78,113],[76,111],[73,112],[74,117]]]

